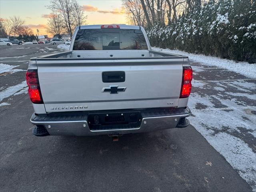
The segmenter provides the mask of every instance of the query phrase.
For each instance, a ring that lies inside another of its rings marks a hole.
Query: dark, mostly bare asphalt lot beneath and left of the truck
[[[0,74],[0,191],[252,191],[191,125],[128,134],[118,142],[32,135],[28,62],[60,51],[50,44],[0,47],[0,63],[16,66]],[[253,138],[249,145],[255,147]]]

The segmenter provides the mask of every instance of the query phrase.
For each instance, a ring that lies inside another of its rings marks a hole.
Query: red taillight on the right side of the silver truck
[[[193,71],[191,67],[183,67],[182,84],[180,90],[180,98],[186,98],[190,95],[192,88]]]

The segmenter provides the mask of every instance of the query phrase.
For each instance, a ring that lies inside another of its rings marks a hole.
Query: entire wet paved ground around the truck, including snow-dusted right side
[[[29,58],[57,51],[63,50],[47,44],[1,47],[0,63],[26,70]],[[244,179],[254,185],[255,80],[192,66],[193,126],[128,134],[119,142],[33,136],[33,108],[22,87],[26,71],[0,74],[6,96],[0,102],[0,191],[252,191]]]

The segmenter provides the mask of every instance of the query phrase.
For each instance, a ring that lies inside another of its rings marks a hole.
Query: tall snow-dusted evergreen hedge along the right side
[[[178,22],[147,29],[152,46],[256,62],[256,2],[209,0]]]

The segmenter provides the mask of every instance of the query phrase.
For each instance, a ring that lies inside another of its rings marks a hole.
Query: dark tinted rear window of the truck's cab
[[[80,29],[73,50],[147,50],[138,29]]]

